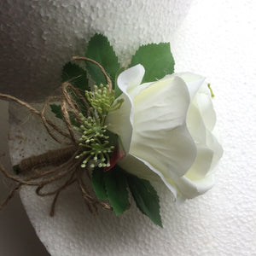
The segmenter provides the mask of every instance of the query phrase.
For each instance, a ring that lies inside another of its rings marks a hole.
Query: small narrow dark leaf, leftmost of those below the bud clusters
[[[105,176],[102,168],[95,168],[92,172],[91,183],[98,199],[108,199]]]

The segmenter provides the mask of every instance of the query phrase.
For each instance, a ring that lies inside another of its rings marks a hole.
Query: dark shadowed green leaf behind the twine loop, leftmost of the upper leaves
[[[90,90],[86,71],[71,62],[67,62],[62,68],[61,82],[64,83],[67,81],[82,93],[84,93],[84,90]]]

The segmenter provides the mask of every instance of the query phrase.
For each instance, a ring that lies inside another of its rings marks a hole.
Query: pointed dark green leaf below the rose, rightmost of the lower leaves
[[[153,186],[146,179],[127,174],[131,195],[136,201],[137,207],[147,215],[154,224],[163,227],[160,217],[159,197]]]

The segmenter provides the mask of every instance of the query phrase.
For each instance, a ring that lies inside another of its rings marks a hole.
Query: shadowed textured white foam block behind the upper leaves
[[[0,90],[26,100],[49,95],[61,82],[63,63],[84,55],[86,42],[96,32],[108,36],[125,63],[140,44],[170,41],[191,2],[3,0]],[[34,90],[35,84],[40,90]]]

